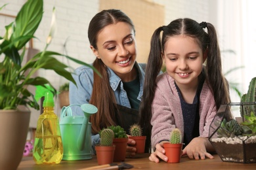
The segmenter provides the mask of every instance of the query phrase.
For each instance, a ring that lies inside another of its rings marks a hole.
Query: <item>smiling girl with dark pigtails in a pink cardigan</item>
[[[157,77],[163,61],[166,72]],[[167,161],[163,143],[175,127],[183,134],[182,155],[196,160],[213,158],[209,125],[220,105],[229,102],[212,24],[184,18],[154,31],[140,105],[140,124],[144,134],[152,134],[155,150],[150,161]]]

